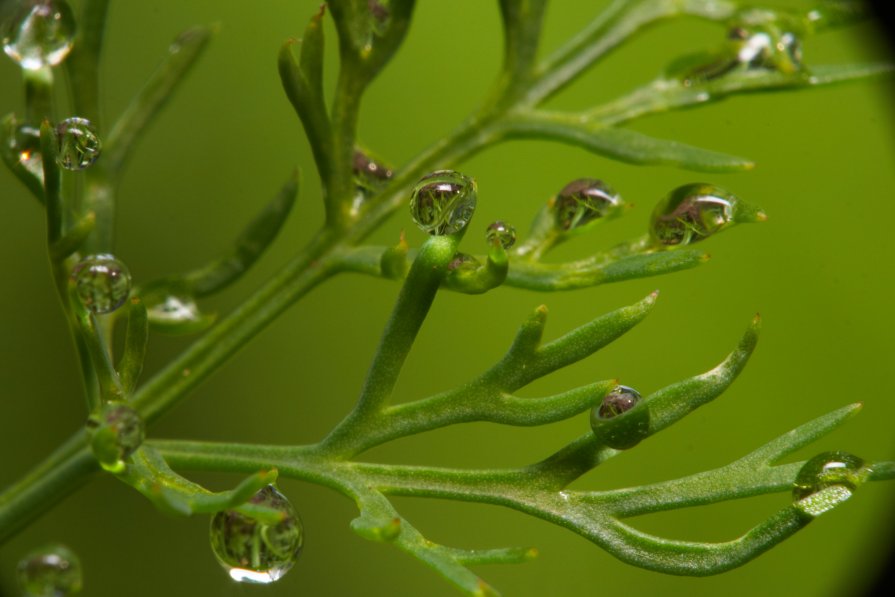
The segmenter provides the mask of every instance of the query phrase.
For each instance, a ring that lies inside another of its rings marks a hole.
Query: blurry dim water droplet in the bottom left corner
[[[47,545],[19,561],[19,585],[26,597],[64,597],[81,592],[81,561],[64,545]]]

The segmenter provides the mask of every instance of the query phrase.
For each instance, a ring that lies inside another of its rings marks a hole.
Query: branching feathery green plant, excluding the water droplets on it
[[[357,504],[360,514],[351,526],[359,535],[395,545],[470,595],[496,591],[468,566],[525,561],[534,555],[533,549],[467,550],[435,544],[395,509],[390,496],[437,497],[513,508],[566,527],[623,561],[670,574],[729,570],[804,527],[814,516],[798,504],[725,543],[656,537],[624,521],[668,509],[789,491],[804,463],[777,463],[843,423],[860,405],[810,421],[719,469],[624,490],[567,489],[584,473],[624,452],[612,447],[616,446],[611,439],[615,434],[608,427],[586,430],[541,460],[513,469],[453,470],[361,461],[358,457],[375,446],[448,425],[471,421],[544,425],[598,407],[616,386],[615,381],[540,398],[522,398],[516,392],[608,345],[639,323],[657,298],[650,295],[549,343],[542,342],[546,309],[539,307],[520,326],[504,357],[478,377],[444,393],[391,404],[398,375],[439,290],[481,293],[502,284],[536,290],[585,288],[675,272],[706,259],[699,249],[666,249],[644,236],[576,261],[545,261],[543,257],[556,244],[593,227],[557,229],[555,200],[535,216],[529,236],[518,248],[508,251],[500,243],[492,243],[487,255],[469,261],[470,267],[457,267],[463,230],[433,235],[415,250],[403,238],[392,247],[362,243],[391,213],[405,208],[409,189],[421,176],[507,139],[562,142],[633,164],[672,165],[700,172],[748,170],[752,163],[746,159],[651,138],[622,125],[647,114],[703,105],[737,93],[805,89],[890,72],[891,66],[884,64],[808,67],[783,42],[784,35],[797,41],[814,31],[851,22],[857,17],[853,5],[827,0],[803,13],[749,8],[732,0],[616,1],[567,44],[539,58],[546,0],[501,0],[504,63],[488,99],[447,139],[408,164],[391,169],[357,147],[358,115],[364,91],[400,47],[413,7],[413,0],[330,2],[311,17],[300,43],[291,40],[283,46],[279,72],[311,144],[326,218],[307,247],[241,307],[220,319],[203,312],[201,300],[238,279],[273,242],[293,206],[297,175],[285,183],[230,251],[187,273],[140,281],[127,306],[109,317],[85,309],[69,282],[81,257],[112,252],[115,191],[123,167],[142,131],[207,47],[211,29],[187,31],[171,46],[146,86],[105,135],[104,154],[83,173],[86,184],[80,194],[69,197],[62,192],[48,124],[40,135],[40,174],[22,165],[14,143],[3,143],[4,162],[46,209],[48,251],[81,357],[88,410],[94,415],[109,403],[124,402],[146,424],[153,423],[286,308],[336,274],[359,272],[402,282],[357,404],[320,442],[283,447],[149,439],[129,452],[124,465],[113,468],[112,474],[160,509],[181,515],[237,509],[264,519],[271,512],[248,500],[277,474],[328,486]],[[107,9],[108,0],[85,0],[78,37],[65,62],[73,83],[73,110],[88,118],[98,114],[98,65]],[[660,20],[682,16],[706,19],[737,33],[718,49],[677,61],[656,80],[606,104],[580,113],[543,107],[548,98],[638,32]],[[339,37],[339,74],[332,100],[327,102],[323,24],[330,18]],[[759,47],[757,54],[744,55],[748,40],[755,36],[769,40],[770,45]],[[26,73],[27,123],[39,125],[51,116],[52,85],[49,70]],[[14,138],[17,126],[13,116],[6,118],[4,134],[8,139]],[[743,221],[761,219],[758,211],[748,213],[751,217]],[[112,331],[116,320],[122,318],[127,329],[122,356],[116,360]],[[152,329],[204,334],[141,384],[139,375]],[[636,427],[637,437],[631,445],[718,397],[745,366],[757,336],[756,319],[717,367],[645,397],[641,410],[648,414],[648,422]],[[618,421],[624,419],[623,415]],[[172,467],[249,476],[231,491],[213,493]],[[0,540],[9,538],[97,470],[88,433],[79,431],[0,495]],[[891,479],[895,463],[876,463],[868,476]]]

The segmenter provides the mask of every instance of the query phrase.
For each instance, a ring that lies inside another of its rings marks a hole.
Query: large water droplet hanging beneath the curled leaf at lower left
[[[249,503],[275,510],[281,519],[265,524],[236,510],[218,512],[211,519],[211,549],[233,580],[272,583],[292,568],[301,553],[301,519],[273,485],[256,493]]]

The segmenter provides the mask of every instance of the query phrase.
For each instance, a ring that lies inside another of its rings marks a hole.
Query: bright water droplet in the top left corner
[[[26,70],[56,66],[68,55],[75,16],[63,0],[29,0],[3,28],[3,51]]]

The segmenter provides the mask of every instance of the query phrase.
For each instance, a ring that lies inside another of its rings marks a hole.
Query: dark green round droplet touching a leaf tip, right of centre
[[[605,445],[627,450],[649,435],[649,408],[640,392],[616,386],[591,410],[590,426]]]

